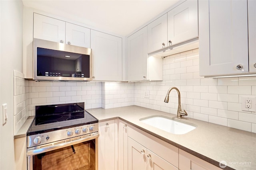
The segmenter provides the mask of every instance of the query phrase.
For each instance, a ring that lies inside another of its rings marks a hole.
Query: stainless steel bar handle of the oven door
[[[82,143],[82,142],[85,142],[85,141],[90,141],[90,140],[96,139],[98,137],[99,137],[99,134],[96,134],[96,135],[91,135],[89,137],[84,137],[84,138],[81,138],[81,139],[76,139],[74,141],[70,141],[70,142],[66,142],[66,143],[61,143],[61,144],[58,144],[58,145],[52,145],[52,146],[45,147],[45,148],[42,147],[42,148],[38,148],[38,149],[28,150],[27,151],[27,156],[33,156],[33,155],[44,153],[44,152],[48,152],[48,151],[51,151],[51,150],[68,147],[70,145],[75,145],[77,143]]]

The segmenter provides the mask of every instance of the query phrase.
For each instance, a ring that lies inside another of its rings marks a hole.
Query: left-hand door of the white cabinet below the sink
[[[128,170],[146,170],[146,148],[128,137]]]

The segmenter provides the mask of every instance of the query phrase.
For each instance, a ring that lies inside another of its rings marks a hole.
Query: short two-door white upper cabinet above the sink
[[[198,2],[186,0],[148,24],[148,53],[198,37]]]

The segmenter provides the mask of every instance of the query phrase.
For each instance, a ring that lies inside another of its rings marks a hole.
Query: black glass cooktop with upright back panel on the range
[[[84,103],[36,106],[36,116],[27,135],[98,123],[84,110]]]

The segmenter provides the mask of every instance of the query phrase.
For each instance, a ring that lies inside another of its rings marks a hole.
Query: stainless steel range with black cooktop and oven
[[[98,119],[84,103],[36,106],[27,132],[28,170],[97,170],[98,137]]]

